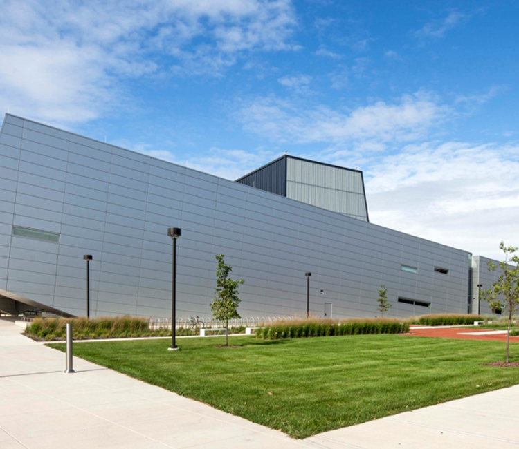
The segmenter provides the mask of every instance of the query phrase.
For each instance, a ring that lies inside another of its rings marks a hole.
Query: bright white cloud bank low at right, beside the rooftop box
[[[517,245],[519,147],[459,142],[406,146],[365,171],[370,220],[500,258]]]

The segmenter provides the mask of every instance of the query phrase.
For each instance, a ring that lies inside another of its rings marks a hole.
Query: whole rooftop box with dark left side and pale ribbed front
[[[370,221],[362,171],[284,155],[236,182]]]

